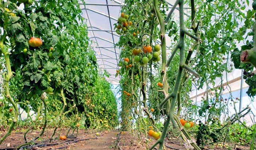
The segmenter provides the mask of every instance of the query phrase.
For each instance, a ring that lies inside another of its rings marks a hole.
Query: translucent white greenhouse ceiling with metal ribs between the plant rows
[[[116,46],[119,35],[114,30],[114,25],[120,16],[120,9],[124,0],[85,0],[85,4],[79,1],[83,17],[87,19],[88,36],[93,42],[91,47],[96,52],[96,58],[101,71],[110,73],[107,78],[112,84],[119,84],[120,76],[116,77],[116,70],[119,69],[118,61],[121,47]],[[168,0],[169,8],[172,8],[174,1]],[[186,7],[189,13],[189,8]],[[178,8],[176,10],[178,12]],[[175,13],[175,12],[174,12]],[[167,46],[170,46],[170,39],[167,37]],[[168,50],[170,52],[170,49]],[[167,52],[167,54],[169,53]]]

